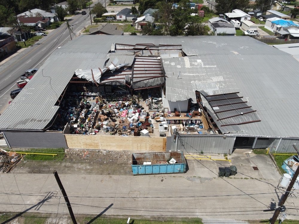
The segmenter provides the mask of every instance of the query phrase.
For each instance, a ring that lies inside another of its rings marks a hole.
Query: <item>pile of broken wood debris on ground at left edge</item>
[[[22,154],[16,154],[16,152],[7,152],[0,149],[0,173],[8,173],[12,170],[21,159]]]

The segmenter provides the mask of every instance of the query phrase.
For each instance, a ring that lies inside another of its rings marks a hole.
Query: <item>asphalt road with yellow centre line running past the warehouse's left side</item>
[[[99,2],[103,2],[99,1]],[[95,2],[97,3],[97,2]],[[94,4],[95,4],[94,3]],[[91,9],[93,5],[91,5]],[[73,30],[70,36],[66,23],[55,30],[52,30],[47,36],[40,39],[34,45],[26,49],[21,49],[14,55],[0,62],[0,113],[8,106],[10,91],[17,89],[16,81],[30,68],[40,68],[45,60],[57,48],[62,47],[80,35],[85,26],[90,25],[89,8],[84,9],[87,15],[77,14],[73,17],[66,17]],[[93,15],[91,15],[93,17]],[[48,31],[46,31],[48,32]]]

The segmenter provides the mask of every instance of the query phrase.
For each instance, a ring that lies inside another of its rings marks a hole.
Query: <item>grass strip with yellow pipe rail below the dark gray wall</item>
[[[24,160],[37,160],[37,161],[62,161],[65,158],[65,151],[62,148],[43,148],[43,149],[36,149],[32,148],[29,150],[16,150],[16,152],[22,153],[40,153],[40,154],[57,154],[57,156],[52,155],[36,155],[36,154],[23,154],[26,155]]]

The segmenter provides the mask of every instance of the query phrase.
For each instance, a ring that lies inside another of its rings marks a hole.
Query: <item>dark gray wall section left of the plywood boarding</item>
[[[61,132],[3,131],[11,148],[67,148]]]

